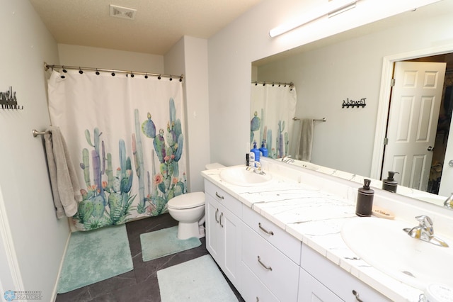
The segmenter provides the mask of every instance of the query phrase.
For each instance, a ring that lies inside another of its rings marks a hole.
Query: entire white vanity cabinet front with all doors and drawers
[[[206,247],[246,302],[390,301],[205,180]]]

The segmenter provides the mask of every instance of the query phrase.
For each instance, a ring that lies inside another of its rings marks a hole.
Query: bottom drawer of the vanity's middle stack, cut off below
[[[279,302],[243,262],[241,262],[241,275],[243,281],[241,296],[246,302]]]

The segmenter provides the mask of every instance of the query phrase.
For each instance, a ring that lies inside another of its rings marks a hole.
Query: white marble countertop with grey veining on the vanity
[[[306,175],[294,178],[275,173],[272,173],[273,180],[265,186],[236,186],[219,177],[221,170],[203,171],[202,177],[391,301],[419,301],[423,291],[375,269],[360,259],[343,241],[340,233],[343,223],[361,219],[355,215],[354,197],[357,188],[347,189],[344,194],[340,194],[343,196],[339,196],[329,193],[331,190],[325,190],[322,186],[306,184]]]

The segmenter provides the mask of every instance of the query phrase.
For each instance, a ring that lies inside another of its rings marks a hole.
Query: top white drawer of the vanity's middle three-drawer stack
[[[278,250],[285,251],[285,255],[289,259],[300,264],[302,242],[247,206],[243,206],[242,220],[266,241],[277,247]]]

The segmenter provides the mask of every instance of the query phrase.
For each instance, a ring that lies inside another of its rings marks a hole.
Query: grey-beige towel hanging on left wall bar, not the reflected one
[[[77,201],[81,201],[82,196],[66,142],[55,126],[47,128],[44,140],[57,218],[74,216],[77,213]]]

